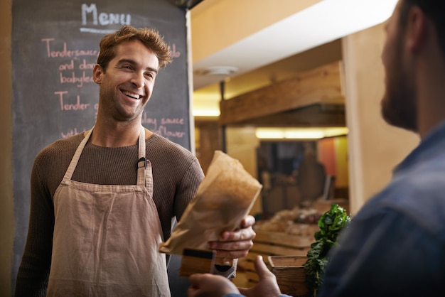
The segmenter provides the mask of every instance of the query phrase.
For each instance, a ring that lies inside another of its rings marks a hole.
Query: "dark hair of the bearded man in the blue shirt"
[[[445,55],[445,1],[444,0],[401,0],[400,24],[406,26],[408,13],[412,6],[417,6],[428,16],[437,31],[437,38]]]

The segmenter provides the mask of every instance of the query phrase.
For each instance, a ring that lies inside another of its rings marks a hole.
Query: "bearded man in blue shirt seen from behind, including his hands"
[[[341,234],[318,296],[445,294],[444,16],[443,0],[400,0],[387,22],[382,115],[388,123],[418,133],[422,141]],[[189,296],[238,293],[235,288],[208,290],[209,279],[191,276]],[[218,282],[230,287],[229,281]],[[255,290],[242,293],[279,295]]]

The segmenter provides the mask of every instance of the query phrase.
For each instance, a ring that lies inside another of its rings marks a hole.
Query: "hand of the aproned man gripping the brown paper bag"
[[[255,232],[252,226],[255,218],[247,215],[242,219],[239,229],[235,231],[225,231],[221,234],[221,239],[216,242],[209,242],[210,249],[215,249],[215,263],[231,266],[233,259],[246,257],[253,246],[252,240]]]

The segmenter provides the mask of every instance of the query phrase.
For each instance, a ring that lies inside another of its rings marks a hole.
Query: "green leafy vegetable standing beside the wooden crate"
[[[323,283],[323,272],[329,262],[328,252],[337,243],[338,234],[348,226],[350,215],[337,205],[331,205],[331,210],[325,212],[318,220],[320,231],[314,234],[316,242],[311,244],[307,253],[308,260],[304,264],[306,270],[306,285],[309,296],[316,296],[318,288]]]

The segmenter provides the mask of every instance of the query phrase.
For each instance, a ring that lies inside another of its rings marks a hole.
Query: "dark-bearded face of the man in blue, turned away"
[[[387,22],[386,42],[382,51],[385,67],[385,95],[382,98],[382,117],[388,124],[417,131],[417,102],[407,54],[404,51],[405,28],[400,24],[400,5]]]

